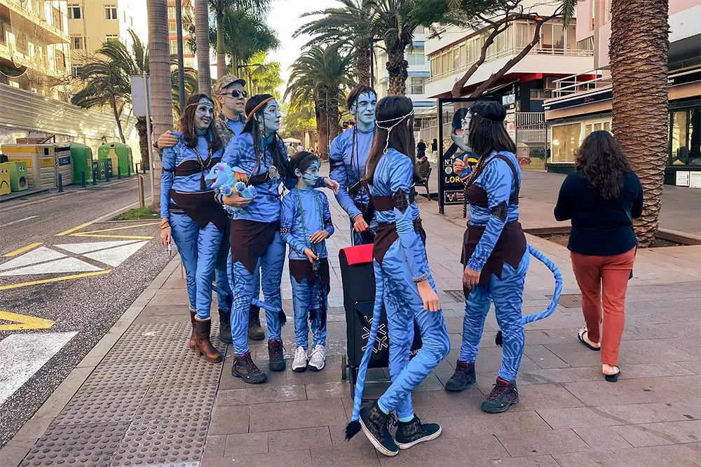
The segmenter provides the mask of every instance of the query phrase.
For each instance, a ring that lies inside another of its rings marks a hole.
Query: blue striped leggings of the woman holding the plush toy
[[[280,232],[275,232],[275,238],[265,254],[258,260],[253,274],[246,267],[236,261],[231,264],[231,254],[227,266],[231,272],[231,289],[234,291],[233,308],[231,309],[231,338],[233,339],[233,351],[236,355],[246,354],[248,348],[248,316],[251,300],[257,297],[258,284],[263,289],[264,301],[281,309],[283,299],[280,295],[280,281],[283,279],[283,266],[285,265],[286,245],[280,238]],[[261,270],[262,281],[258,279],[258,271]],[[280,340],[282,324],[277,312],[266,309],[265,319],[268,325],[268,340]]]

